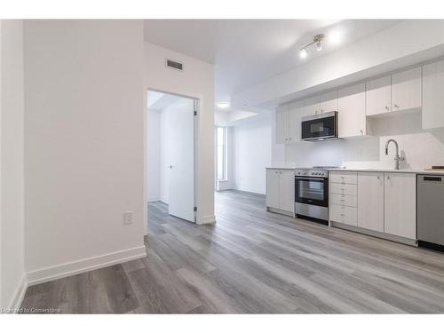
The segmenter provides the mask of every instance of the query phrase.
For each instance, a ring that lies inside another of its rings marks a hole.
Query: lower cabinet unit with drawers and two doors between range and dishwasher
[[[329,221],[334,226],[353,226],[352,230],[363,234],[367,231],[415,244],[416,174],[358,171],[356,177],[353,171],[330,172]]]

